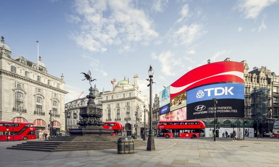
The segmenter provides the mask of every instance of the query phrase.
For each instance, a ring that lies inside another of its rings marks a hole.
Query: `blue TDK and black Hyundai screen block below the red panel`
[[[214,117],[244,117],[244,84],[218,83],[187,91],[187,119]]]

